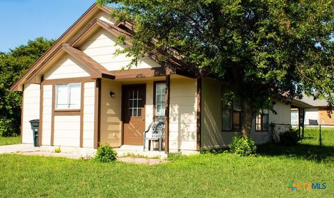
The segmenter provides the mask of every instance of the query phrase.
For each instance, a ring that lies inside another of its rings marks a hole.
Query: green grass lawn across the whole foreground
[[[0,155],[0,197],[334,197],[333,147],[263,145],[257,157],[172,159],[149,166]],[[327,188],[291,192],[289,181]]]

